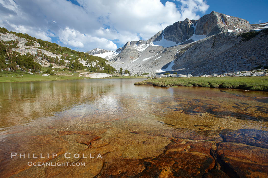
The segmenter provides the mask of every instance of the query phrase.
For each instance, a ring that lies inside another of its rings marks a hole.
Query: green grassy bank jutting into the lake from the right
[[[200,86],[211,88],[234,88],[243,90],[268,91],[268,76],[264,77],[191,77],[191,78],[154,78],[135,85]]]

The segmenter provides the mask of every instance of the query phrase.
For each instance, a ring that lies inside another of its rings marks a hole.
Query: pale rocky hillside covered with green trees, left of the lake
[[[30,70],[38,72],[41,66],[86,69],[92,72],[111,73],[114,68],[107,60],[62,47],[56,43],[36,39],[28,34],[16,33],[0,28],[1,70]],[[107,53],[107,50],[97,50]],[[94,53],[94,52],[93,52]]]

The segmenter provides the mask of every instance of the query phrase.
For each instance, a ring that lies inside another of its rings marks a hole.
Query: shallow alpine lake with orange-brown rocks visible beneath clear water
[[[0,177],[268,177],[268,92],[142,80],[1,83]]]

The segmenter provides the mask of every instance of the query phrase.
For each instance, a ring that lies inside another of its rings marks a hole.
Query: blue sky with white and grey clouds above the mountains
[[[268,0],[1,0],[0,26],[79,51],[116,50],[213,10],[268,22],[267,7]]]

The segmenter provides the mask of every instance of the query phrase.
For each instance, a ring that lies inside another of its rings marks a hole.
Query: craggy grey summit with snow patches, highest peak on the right
[[[248,32],[254,27],[245,19],[212,11],[200,19],[178,21],[159,31],[148,41],[164,47],[179,45],[187,40],[197,41],[221,32]]]

